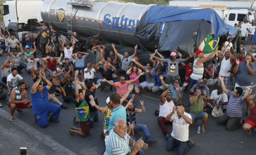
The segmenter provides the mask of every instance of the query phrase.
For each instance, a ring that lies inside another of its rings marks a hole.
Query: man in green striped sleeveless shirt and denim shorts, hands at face
[[[194,96],[191,96],[189,98],[190,102],[190,115],[193,120],[193,125],[198,119],[202,119],[202,126],[201,126],[201,132],[204,133],[205,130],[205,124],[208,120],[208,114],[203,112],[204,110],[204,101],[209,101],[210,96],[207,95],[206,91],[203,91],[204,95],[201,95],[201,90],[195,89]]]

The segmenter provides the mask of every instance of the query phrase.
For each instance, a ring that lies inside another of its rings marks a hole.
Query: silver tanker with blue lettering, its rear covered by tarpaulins
[[[137,44],[138,55],[145,61],[149,60],[148,51],[155,46],[164,55],[179,51],[186,57],[197,49],[210,53],[218,48],[220,37],[232,37],[237,31],[210,8],[199,10],[113,1],[45,0],[41,18],[68,39],[74,31],[83,42],[91,42],[92,36],[99,36],[107,52],[112,50],[110,43],[120,45],[117,49],[121,54],[132,53],[131,47]]]

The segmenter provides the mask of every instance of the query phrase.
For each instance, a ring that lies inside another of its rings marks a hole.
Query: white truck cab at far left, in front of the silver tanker
[[[10,31],[33,31],[42,21],[42,0],[10,0],[3,2],[3,22]]]

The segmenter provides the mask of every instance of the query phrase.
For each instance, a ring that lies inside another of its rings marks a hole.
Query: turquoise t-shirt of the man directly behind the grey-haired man
[[[109,121],[109,128],[108,128],[109,133],[113,128],[113,124],[115,120],[117,120],[118,118],[123,118],[124,120],[126,120],[126,110],[122,105],[119,105],[118,107],[114,108],[112,111],[112,115]]]

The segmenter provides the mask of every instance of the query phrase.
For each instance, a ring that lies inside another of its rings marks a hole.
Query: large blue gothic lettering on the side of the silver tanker
[[[139,23],[139,20],[136,21],[134,19],[125,18],[124,15],[120,17],[112,17],[111,15],[106,14],[104,15],[104,26],[112,29],[122,29],[122,30],[128,30],[128,31],[134,31],[136,28],[136,25]],[[120,20],[120,24],[119,24]],[[128,24],[127,24],[128,23]]]

